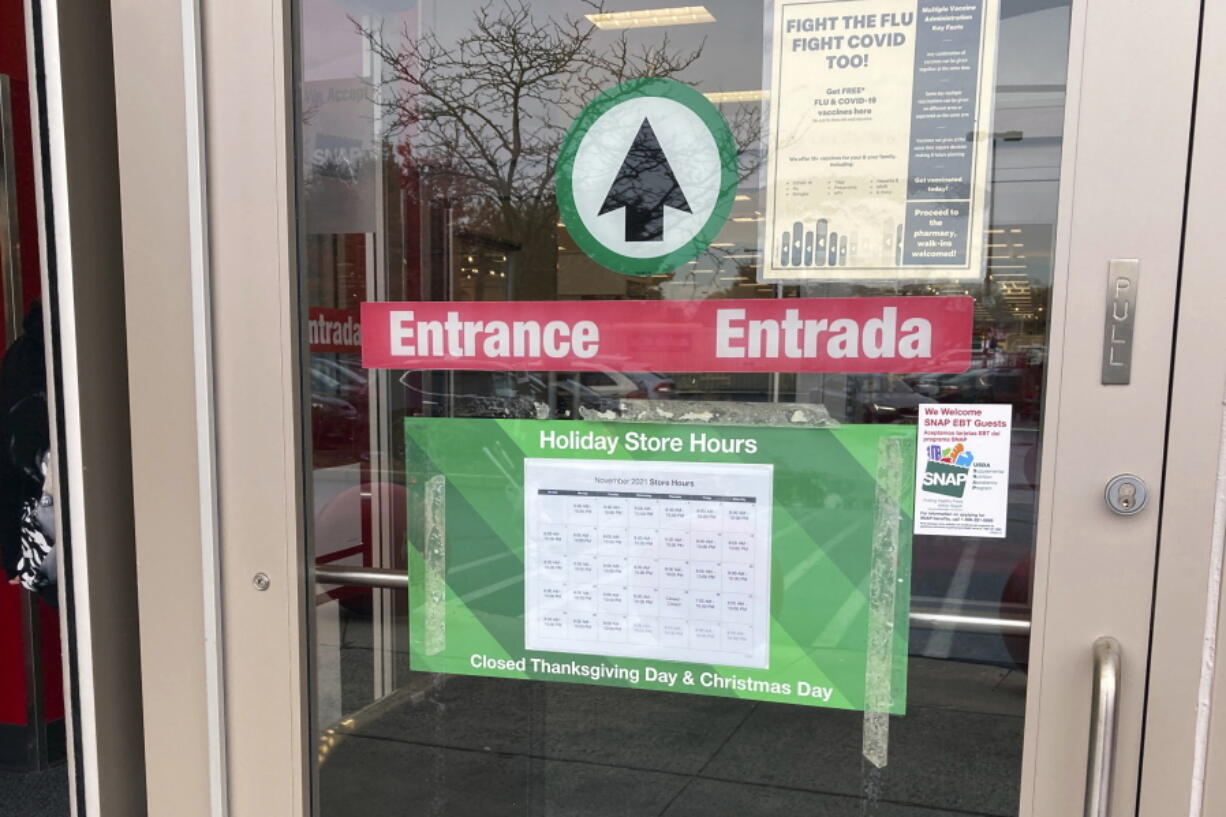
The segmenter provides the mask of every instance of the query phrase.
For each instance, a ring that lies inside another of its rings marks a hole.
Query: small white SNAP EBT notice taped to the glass
[[[920,406],[915,532],[1003,539],[1010,405]]]

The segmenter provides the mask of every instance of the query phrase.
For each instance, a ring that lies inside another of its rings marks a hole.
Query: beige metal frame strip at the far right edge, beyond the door
[[[1226,185],[1226,6],[1204,4],[1161,540],[1146,688],[1141,817],[1226,813],[1226,277],[1221,189]],[[1189,48],[1192,43],[1188,43]]]

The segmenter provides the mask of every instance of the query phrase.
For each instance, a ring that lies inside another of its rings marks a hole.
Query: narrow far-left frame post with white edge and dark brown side
[[[145,813],[112,15],[26,0],[76,815]]]

